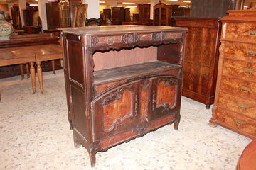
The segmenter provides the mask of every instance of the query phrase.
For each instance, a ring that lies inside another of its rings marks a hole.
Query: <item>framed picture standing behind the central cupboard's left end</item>
[[[81,4],[75,6],[75,13],[73,16],[73,27],[85,26],[88,4]]]

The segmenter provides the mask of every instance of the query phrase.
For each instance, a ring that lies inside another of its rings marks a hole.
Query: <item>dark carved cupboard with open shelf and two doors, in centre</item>
[[[75,145],[96,152],[161,126],[178,129],[185,28],[61,28]]]

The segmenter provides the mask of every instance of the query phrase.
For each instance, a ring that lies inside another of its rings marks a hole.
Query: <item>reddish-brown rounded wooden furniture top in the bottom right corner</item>
[[[237,169],[256,170],[256,140],[252,140],[243,150]]]

